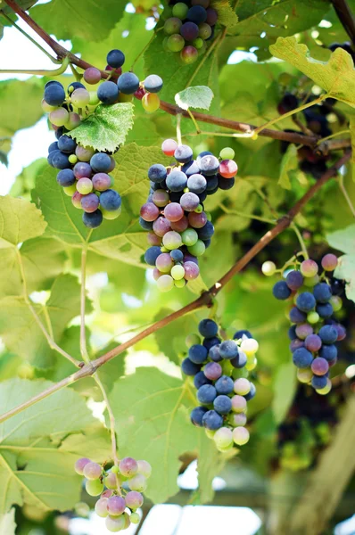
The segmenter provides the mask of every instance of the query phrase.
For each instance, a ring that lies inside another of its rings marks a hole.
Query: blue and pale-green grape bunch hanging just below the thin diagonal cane
[[[201,403],[191,413],[191,422],[204,427],[219,451],[249,440],[246,402],[255,396],[255,386],[246,377],[257,365],[258,342],[249,331],[237,331],[233,340],[219,338],[219,327],[202,319],[198,334],[187,336],[188,356],[181,368],[194,376],[197,399]],[[243,369],[244,368],[244,369]]]

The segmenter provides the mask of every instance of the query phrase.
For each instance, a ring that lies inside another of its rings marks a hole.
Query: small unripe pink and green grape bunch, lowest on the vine
[[[95,513],[106,519],[109,531],[127,530],[131,523],[139,523],[136,510],[143,505],[141,494],[147,487],[152,467],[147,461],[123,458],[110,470],[83,457],[75,463],[75,472],[86,478],[85,488],[90,496],[100,496]]]

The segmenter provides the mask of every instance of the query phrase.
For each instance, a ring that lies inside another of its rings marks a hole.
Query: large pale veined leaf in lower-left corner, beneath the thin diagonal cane
[[[10,410],[54,383],[11,379],[0,384],[0,405]],[[73,410],[75,407],[75,410]],[[80,448],[70,453],[66,437],[103,429],[75,391],[57,391],[0,425],[0,512],[24,503],[42,510],[65,511],[78,502],[82,478],[73,465]],[[110,456],[109,448],[107,455]],[[2,531],[3,532],[3,531]]]

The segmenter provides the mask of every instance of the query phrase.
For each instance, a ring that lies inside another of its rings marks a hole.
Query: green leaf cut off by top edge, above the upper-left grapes
[[[37,5],[30,14],[37,24],[59,39],[78,36],[100,41],[120,21],[125,7],[125,2],[117,0],[91,0],[89,4],[86,0],[52,0]]]

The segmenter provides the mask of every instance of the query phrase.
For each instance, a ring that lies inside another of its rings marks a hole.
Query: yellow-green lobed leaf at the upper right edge
[[[342,48],[337,48],[328,62],[318,62],[310,57],[308,47],[298,44],[295,37],[278,37],[276,44],[270,46],[270,52],[301,70],[327,95],[355,107],[354,63]]]

